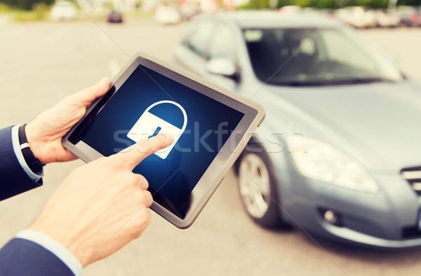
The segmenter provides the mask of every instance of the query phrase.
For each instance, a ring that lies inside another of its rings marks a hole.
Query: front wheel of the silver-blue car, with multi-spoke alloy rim
[[[267,153],[260,146],[248,144],[237,164],[241,202],[248,215],[260,226],[283,226],[276,195],[276,177]]]

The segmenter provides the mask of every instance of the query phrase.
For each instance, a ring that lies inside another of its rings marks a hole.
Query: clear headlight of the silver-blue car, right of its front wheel
[[[358,191],[380,191],[373,177],[356,160],[325,142],[309,137],[302,139],[302,142],[293,141],[288,146],[304,177]]]

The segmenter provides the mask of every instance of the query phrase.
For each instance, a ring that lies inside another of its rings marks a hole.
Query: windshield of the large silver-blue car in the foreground
[[[403,78],[391,59],[352,29],[243,29],[243,36],[263,82],[324,85]]]

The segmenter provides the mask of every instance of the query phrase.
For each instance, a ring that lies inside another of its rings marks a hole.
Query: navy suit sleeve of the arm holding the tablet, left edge
[[[0,130],[0,200],[10,198],[42,185],[32,180],[22,169],[13,151],[12,127]]]

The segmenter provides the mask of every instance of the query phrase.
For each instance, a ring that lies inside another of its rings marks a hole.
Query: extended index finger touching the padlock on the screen
[[[152,153],[165,149],[174,142],[174,137],[171,134],[158,134],[149,139],[142,139],[133,146],[123,149],[116,154],[123,160],[123,163],[128,164],[128,167],[133,170],[142,160],[150,156]]]

